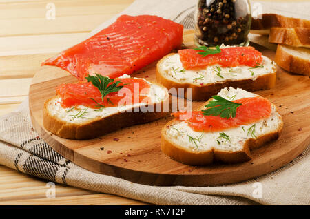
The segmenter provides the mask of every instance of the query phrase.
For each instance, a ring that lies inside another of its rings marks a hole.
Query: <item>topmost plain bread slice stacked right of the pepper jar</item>
[[[270,28],[310,28],[310,21],[280,14],[261,14],[251,21],[251,33],[267,35]]]

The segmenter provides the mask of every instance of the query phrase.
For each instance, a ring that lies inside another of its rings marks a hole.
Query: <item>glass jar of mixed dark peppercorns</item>
[[[249,45],[249,0],[199,0],[195,16],[197,46]]]

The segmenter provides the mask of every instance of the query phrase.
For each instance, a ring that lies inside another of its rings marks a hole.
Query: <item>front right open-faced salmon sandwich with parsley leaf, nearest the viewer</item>
[[[173,115],[176,118],[162,129],[161,149],[187,165],[251,160],[250,149],[278,138],[283,126],[275,105],[233,87],[222,89],[195,111]]]

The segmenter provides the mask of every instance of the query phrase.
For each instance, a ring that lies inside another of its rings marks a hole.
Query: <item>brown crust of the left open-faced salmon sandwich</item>
[[[58,98],[58,96],[54,98]],[[50,101],[53,101],[54,98],[45,101],[43,108],[43,126],[49,132],[61,138],[79,140],[96,138],[123,127],[155,121],[169,113],[162,112],[163,110],[161,110],[161,112],[156,112],[156,107],[158,107],[158,105],[161,105],[161,109],[163,109],[165,101],[169,101],[169,95],[167,95],[161,103],[153,104],[154,112],[141,112],[141,110],[134,112],[134,108],[132,108],[132,112],[118,112],[105,118],[88,119],[85,123],[81,124],[68,123],[50,114],[47,105]]]

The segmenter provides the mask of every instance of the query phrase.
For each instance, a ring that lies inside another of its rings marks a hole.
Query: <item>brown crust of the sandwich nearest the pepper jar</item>
[[[167,56],[172,56],[175,53],[167,54]],[[234,87],[234,88],[242,88],[249,92],[253,92],[256,90],[267,90],[276,84],[276,70],[271,72],[270,74],[265,74],[263,76],[258,76],[256,80],[252,79],[244,79],[244,80],[236,80],[236,81],[223,81],[217,83],[209,83],[206,85],[196,85],[192,83],[179,83],[178,81],[174,81],[172,79],[167,79],[159,67],[161,63],[167,58],[164,56],[160,61],[157,63],[156,67],[156,79],[158,83],[161,83],[167,89],[176,88],[184,88],[184,96],[187,98],[187,89],[192,88],[192,100],[193,101],[206,101],[207,99],[211,98],[214,94],[220,92],[220,90],[224,87]],[[178,94],[178,96],[181,96]]]

